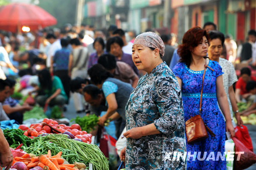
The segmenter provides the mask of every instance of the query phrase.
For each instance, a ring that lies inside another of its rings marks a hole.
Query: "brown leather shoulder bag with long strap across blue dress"
[[[194,117],[190,118],[185,122],[186,139],[188,144],[192,144],[194,142],[201,141],[202,139],[207,138],[208,137],[207,131],[213,137],[215,137],[215,134],[209,129],[209,127],[206,126],[206,124],[204,124],[204,121],[201,118],[204,76],[205,76],[207,67],[213,71],[213,69],[210,68],[207,64],[204,65],[204,75],[203,75],[201,96],[200,96],[199,115],[195,115]]]

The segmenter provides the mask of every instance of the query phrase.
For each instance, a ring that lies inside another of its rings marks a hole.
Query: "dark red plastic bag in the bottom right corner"
[[[244,144],[239,141],[236,137],[233,137],[232,140],[235,143],[236,152],[244,152],[240,155],[239,161],[237,160],[238,154],[235,154],[234,158],[234,170],[243,170],[247,167],[250,167],[252,164],[256,163],[256,155],[250,151]]]

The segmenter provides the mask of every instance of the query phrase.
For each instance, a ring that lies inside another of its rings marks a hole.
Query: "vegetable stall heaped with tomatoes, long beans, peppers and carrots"
[[[108,170],[108,159],[79,124],[67,126],[44,118],[41,123],[3,133],[12,149],[12,170]],[[18,155],[16,154],[18,153]],[[16,155],[15,155],[16,154]]]

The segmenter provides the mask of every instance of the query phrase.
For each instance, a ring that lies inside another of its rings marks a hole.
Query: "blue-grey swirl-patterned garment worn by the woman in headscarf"
[[[180,86],[166,63],[146,73],[125,107],[127,130],[154,123],[160,134],[127,139],[125,170],[185,170],[186,161],[165,159],[185,152],[186,139]]]

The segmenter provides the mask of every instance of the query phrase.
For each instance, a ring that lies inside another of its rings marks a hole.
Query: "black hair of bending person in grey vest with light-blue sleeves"
[[[88,69],[88,75],[93,84],[102,84],[107,78],[113,77],[101,64],[95,64]]]

